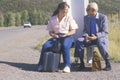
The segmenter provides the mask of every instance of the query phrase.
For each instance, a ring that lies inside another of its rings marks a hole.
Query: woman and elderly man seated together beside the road
[[[78,28],[75,20],[68,16],[69,5],[66,2],[62,2],[58,5],[54,11],[47,29],[50,36],[49,39],[43,46],[38,63],[38,70],[42,70],[43,54],[47,48],[51,47],[51,42],[54,42],[56,38],[59,38],[59,33],[62,34],[60,40],[62,46],[63,60],[65,67],[63,72],[70,72],[70,48],[73,43],[72,35],[76,33]],[[84,35],[76,41],[75,45],[75,56],[80,58],[80,69],[85,68],[84,66],[84,47],[89,45],[97,45],[102,57],[105,60],[107,71],[111,70],[111,64],[108,55],[108,25],[107,17],[101,13],[98,13],[98,6],[95,2],[89,3],[87,6],[87,14],[84,17]]]

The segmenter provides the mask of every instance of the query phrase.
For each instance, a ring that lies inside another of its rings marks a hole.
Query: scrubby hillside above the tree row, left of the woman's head
[[[33,9],[52,12],[61,0],[0,0],[0,12],[21,12]]]

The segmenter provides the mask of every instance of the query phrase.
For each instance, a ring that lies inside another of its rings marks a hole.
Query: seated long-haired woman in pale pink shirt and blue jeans
[[[47,29],[52,38],[49,39],[42,47],[40,61],[38,64],[39,71],[42,70],[43,54],[45,53],[46,49],[50,48],[52,46],[51,43],[56,41],[57,38],[62,37],[60,42],[65,63],[63,72],[70,72],[70,48],[73,42],[72,35],[75,34],[78,26],[73,18],[67,15],[68,9],[69,5],[66,2],[61,2],[49,20]],[[60,36],[61,34],[62,36]]]

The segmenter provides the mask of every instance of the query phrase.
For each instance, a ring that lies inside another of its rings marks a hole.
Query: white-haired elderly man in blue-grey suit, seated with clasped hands
[[[108,55],[108,23],[104,14],[98,13],[98,5],[95,2],[89,3],[87,6],[87,14],[84,17],[84,34],[82,38],[78,38],[75,46],[75,57],[80,57],[80,69],[85,68],[84,65],[84,47],[97,45],[102,57],[105,60],[105,70],[111,70],[111,64]]]

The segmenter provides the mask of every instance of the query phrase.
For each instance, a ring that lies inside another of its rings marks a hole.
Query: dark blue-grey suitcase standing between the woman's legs
[[[58,70],[60,61],[60,54],[53,52],[46,52],[43,54],[43,71],[55,72]]]

